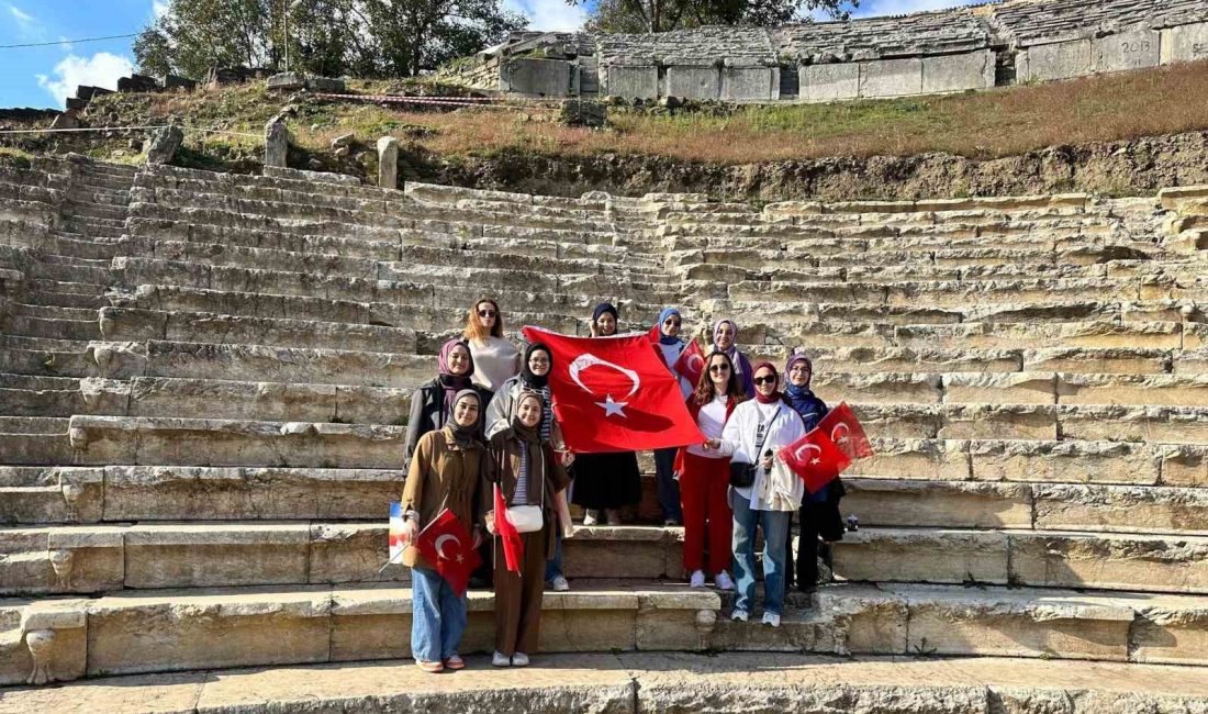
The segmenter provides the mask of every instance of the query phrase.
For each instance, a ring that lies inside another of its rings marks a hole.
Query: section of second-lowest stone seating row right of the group
[[[1181,533],[861,527],[832,550],[852,581],[1208,593],[1208,538]]]

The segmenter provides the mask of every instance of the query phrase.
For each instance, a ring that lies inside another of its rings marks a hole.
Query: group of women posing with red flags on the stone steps
[[[755,542],[762,530],[762,622],[778,627],[794,577],[802,591],[818,580],[819,536],[841,536],[842,484],[836,480],[806,493],[801,480],[772,454],[812,429],[826,405],[809,389],[812,364],[805,355],[791,355],[783,373],[766,361],[753,366],[737,347],[733,320],[714,325],[705,370],[691,383],[675,370],[687,344],[679,336],[683,323],[678,309],[664,309],[657,347],[704,441],[655,452],[664,523],[684,526],[690,585],[705,587],[712,576],[718,588],[737,590],[732,617],[741,621],[755,604]],[[614,306],[602,303],[592,313],[593,337],[614,336],[618,327]],[[448,509],[483,552],[478,576],[492,580],[495,590],[492,663],[523,667],[536,649],[546,584],[569,590],[562,571],[562,539],[573,530],[569,501],[585,509],[585,526],[618,526],[641,498],[637,454],[575,454],[567,448],[551,405],[552,367],[546,346],[517,349],[504,338],[498,303],[480,300],[466,317],[463,337],[441,348],[436,378],[412,396],[402,494],[412,545],[403,562],[413,569],[412,652],[426,672],[465,667],[458,646],[466,598],[413,545],[441,512]],[[496,489],[507,513],[495,512]],[[794,571],[788,563],[795,511],[801,540]],[[499,552],[498,518],[524,524],[518,571],[509,570]]]

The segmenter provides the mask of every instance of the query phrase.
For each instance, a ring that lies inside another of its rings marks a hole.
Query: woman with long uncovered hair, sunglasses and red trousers
[[[733,556],[733,513],[730,511],[730,459],[721,453],[721,434],[743,391],[724,352],[705,360],[687,411],[704,435],[704,443],[680,449],[680,492],[684,494],[684,570],[689,585],[704,587],[704,541],[709,540],[709,574],[720,590],[734,590],[726,570]]]

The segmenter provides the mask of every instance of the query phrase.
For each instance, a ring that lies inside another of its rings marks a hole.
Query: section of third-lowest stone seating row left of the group
[[[400,469],[0,466],[0,523],[370,519]]]

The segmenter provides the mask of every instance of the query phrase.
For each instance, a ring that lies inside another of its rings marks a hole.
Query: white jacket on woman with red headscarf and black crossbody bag
[[[767,420],[767,436],[763,440],[762,451],[756,453],[755,449],[759,447],[756,431],[759,430],[761,418]],[[805,435],[806,425],[801,420],[801,416],[797,414],[796,410],[789,405],[784,402],[761,405],[759,400],[749,399],[734,407],[734,412],[730,414],[730,420],[726,422],[726,428],[721,433],[721,452],[728,455],[733,462],[759,464],[762,459],[763,452],[771,449],[772,453],[776,453],[780,451],[780,448],[789,446]],[[783,471],[788,470],[785,469]],[[773,503],[766,500],[765,498],[754,495],[760,493],[766,494],[769,492],[769,489],[762,483],[762,480],[765,478],[763,469],[757,468],[755,474],[756,477],[754,484],[747,488],[736,488],[734,492],[750,500],[753,510],[785,510],[783,507],[776,507]],[[777,475],[777,470],[773,470],[773,475]],[[792,481],[796,483],[786,482],[782,484],[782,488],[773,488],[771,490],[790,490],[796,493],[797,503],[800,503],[801,494],[805,493],[805,486],[801,483],[801,480],[795,476]]]

